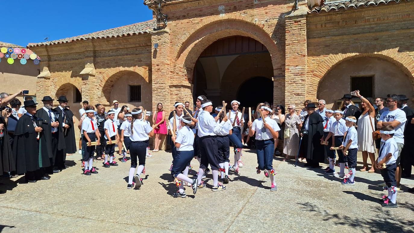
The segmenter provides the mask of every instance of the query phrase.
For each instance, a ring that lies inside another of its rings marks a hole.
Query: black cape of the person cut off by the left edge
[[[0,116],[0,124],[4,124],[2,132],[4,136],[0,138],[0,175],[2,175],[3,172],[15,171],[16,165],[14,164],[12,148],[10,147],[10,136],[7,133],[7,124],[2,116]]]

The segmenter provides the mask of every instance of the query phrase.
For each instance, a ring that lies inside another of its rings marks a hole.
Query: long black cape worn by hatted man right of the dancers
[[[306,115],[301,132],[305,129],[305,123],[308,118],[308,140],[302,140],[300,148],[301,155],[299,157],[306,157],[307,159],[321,163],[325,159],[325,148],[320,144],[320,139],[323,137],[323,119],[315,112]]]

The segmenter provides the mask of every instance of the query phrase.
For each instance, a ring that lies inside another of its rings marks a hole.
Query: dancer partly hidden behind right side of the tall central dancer
[[[218,106],[215,110],[217,112],[221,111],[223,106]],[[223,111],[219,115],[219,121],[223,121],[226,112]],[[223,180],[223,184],[229,183],[229,156],[230,156],[230,139],[229,136],[232,135],[233,126],[230,123],[230,120],[224,123],[223,128],[220,132],[217,133],[217,146],[219,148],[219,166],[221,172],[221,179]]]

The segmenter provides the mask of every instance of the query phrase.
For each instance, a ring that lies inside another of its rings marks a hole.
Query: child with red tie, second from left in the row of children
[[[104,168],[109,168],[109,166],[118,166],[118,163],[113,160],[113,154],[115,153],[115,144],[112,144],[112,140],[116,140],[117,143],[119,141],[118,128],[116,127],[116,122],[113,120],[115,118],[115,112],[109,111],[108,118],[109,119],[106,120],[105,124],[103,125],[103,129],[105,130],[105,139],[107,140],[105,147],[105,161],[103,162]]]

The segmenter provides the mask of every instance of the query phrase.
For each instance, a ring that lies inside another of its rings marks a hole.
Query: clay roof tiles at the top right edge
[[[319,7],[313,7],[310,10],[310,13],[321,13],[321,12],[330,12],[338,11],[341,9],[347,10],[349,8],[358,8],[358,7],[368,7],[368,6],[378,6],[380,4],[388,4],[390,2],[408,2],[410,0],[347,0],[342,2],[328,2]]]

